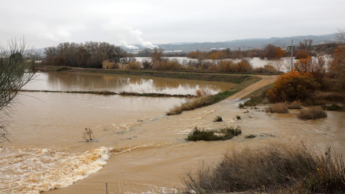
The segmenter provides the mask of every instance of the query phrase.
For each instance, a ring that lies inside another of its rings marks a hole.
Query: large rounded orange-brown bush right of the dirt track
[[[284,101],[306,101],[315,91],[317,84],[309,73],[290,71],[279,77],[266,97],[273,103]]]

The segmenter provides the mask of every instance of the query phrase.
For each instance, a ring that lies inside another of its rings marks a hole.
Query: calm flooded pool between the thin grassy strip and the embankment
[[[140,93],[192,94],[196,89],[207,88],[215,94],[236,85],[216,81],[71,72],[41,73],[37,79],[41,80],[29,83],[24,89],[114,92],[132,90]]]

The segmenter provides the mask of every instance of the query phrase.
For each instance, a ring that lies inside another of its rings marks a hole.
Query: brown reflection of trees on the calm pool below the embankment
[[[133,89],[150,90],[187,90],[204,87],[214,91],[221,91],[229,88],[215,85],[214,83],[203,83],[196,80],[174,80],[167,78],[141,78],[136,76],[108,76],[90,74],[72,74],[68,72],[49,72],[47,73],[49,88],[55,90],[110,90],[120,91]]]

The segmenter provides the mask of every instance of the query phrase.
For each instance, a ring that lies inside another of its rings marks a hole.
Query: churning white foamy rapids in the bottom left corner
[[[67,187],[107,164],[106,147],[80,154],[59,152],[55,147],[5,148],[0,153],[0,193],[39,193]]]

